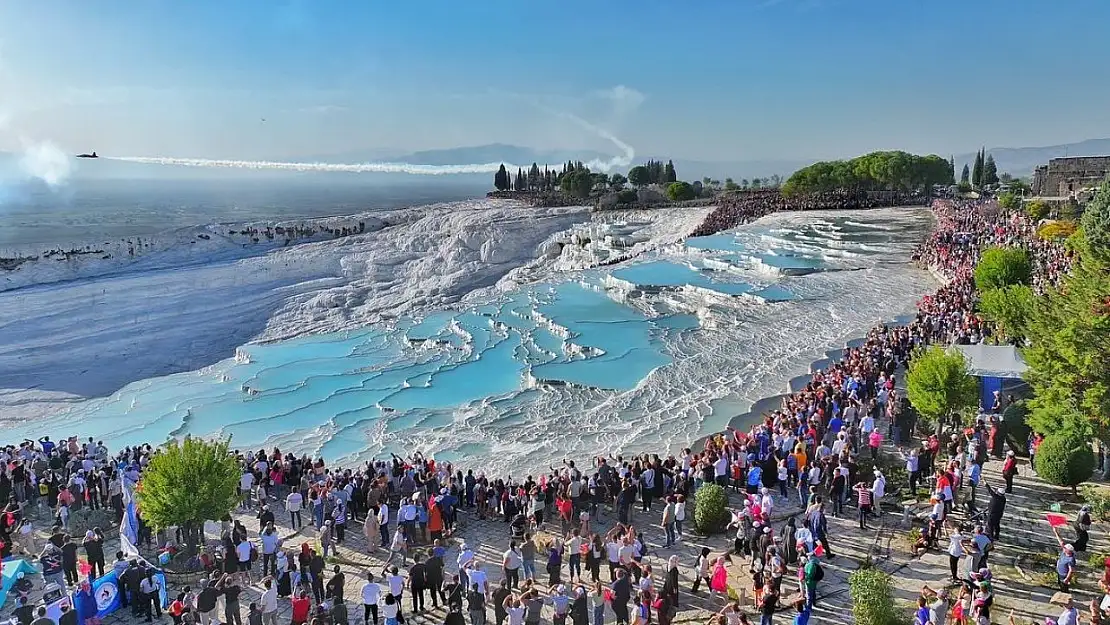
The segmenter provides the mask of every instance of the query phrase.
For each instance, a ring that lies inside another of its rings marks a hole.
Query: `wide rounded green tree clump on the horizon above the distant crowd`
[[[951,167],[936,154],[871,152],[848,161],[820,161],[799,169],[783,184],[786,194],[838,189],[912,191],[949,184]]]

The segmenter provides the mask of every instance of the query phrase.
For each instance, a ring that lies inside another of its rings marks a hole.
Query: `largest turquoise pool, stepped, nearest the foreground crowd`
[[[669,333],[696,326],[687,315],[649,319],[583,283],[542,285],[391,326],[245,345],[203,371],[87,402],[82,435],[127,445],[220,433],[253,446],[323,429],[319,452],[350,456],[385,415],[394,431],[445,426],[456,409],[536,384],[632,390],[672,362]]]

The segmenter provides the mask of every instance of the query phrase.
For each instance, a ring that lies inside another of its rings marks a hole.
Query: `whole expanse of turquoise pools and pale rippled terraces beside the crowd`
[[[475,293],[452,310],[248,344],[11,435],[79,424],[81,436],[119,446],[220,434],[239,448],[276,444],[332,462],[421,448],[509,471],[568,450],[658,452],[779,391],[795,374],[780,376],[794,371],[790,359],[866,330],[876,311],[904,312],[898,302],[909,305],[922,282],[884,269],[868,246],[886,240],[891,259],[905,258],[925,222],[886,232],[879,221],[891,216],[784,215],[620,265]],[[860,289],[870,274],[847,269],[890,273],[874,276],[882,288],[872,296]]]

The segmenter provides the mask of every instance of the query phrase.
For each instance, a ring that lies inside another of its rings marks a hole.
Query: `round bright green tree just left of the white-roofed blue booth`
[[[978,405],[979,384],[968,372],[963,354],[932,346],[910,361],[906,394],[914,409],[932,421],[939,433],[955,416]]]

